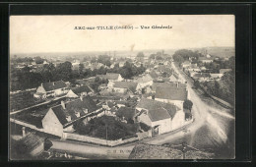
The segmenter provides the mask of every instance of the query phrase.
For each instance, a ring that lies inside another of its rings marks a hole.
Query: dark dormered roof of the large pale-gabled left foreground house
[[[62,105],[57,105],[55,107],[52,107],[52,111],[57,116],[58,120],[62,125],[65,125],[68,123],[66,117],[71,116],[71,120],[76,119],[76,112],[79,112],[81,116],[85,115],[84,110],[88,109],[89,112],[96,111],[98,107],[96,106],[96,103],[93,99],[91,99],[89,96],[84,97],[83,101],[79,98],[70,102],[65,103],[66,108],[64,109]]]

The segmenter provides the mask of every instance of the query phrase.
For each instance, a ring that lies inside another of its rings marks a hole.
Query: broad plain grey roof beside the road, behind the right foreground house
[[[157,87],[155,97],[184,101],[187,99],[187,90],[183,87]]]

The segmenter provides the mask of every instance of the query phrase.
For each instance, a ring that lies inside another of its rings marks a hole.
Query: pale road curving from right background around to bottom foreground
[[[185,80],[186,76],[175,65],[172,68],[179,74],[183,82],[187,82],[190,100],[193,102],[192,114],[195,121],[188,125],[187,133],[175,131],[160,135],[142,142],[151,144],[187,142],[199,149],[211,150],[218,154],[217,158],[233,158],[234,156],[234,117],[226,109],[217,109],[207,105],[192,88],[193,83]],[[116,147],[96,146],[93,144],[71,141],[52,140],[52,149],[86,154],[88,158],[127,159],[135,142]]]

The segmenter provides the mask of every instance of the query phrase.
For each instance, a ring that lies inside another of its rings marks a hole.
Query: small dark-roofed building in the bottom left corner
[[[27,136],[17,141],[16,148],[20,154],[37,156],[44,150],[44,140],[29,133]]]

